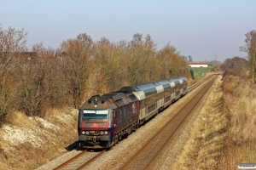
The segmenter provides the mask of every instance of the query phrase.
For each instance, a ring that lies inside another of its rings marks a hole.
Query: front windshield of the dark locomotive
[[[84,109],[84,119],[106,119],[108,118],[107,109]]]

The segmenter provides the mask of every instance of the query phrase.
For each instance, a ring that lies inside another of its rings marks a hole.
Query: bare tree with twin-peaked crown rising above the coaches
[[[152,81],[159,77],[159,69],[156,64],[156,44],[147,35],[143,41],[142,34],[135,34],[133,40],[126,46],[126,59],[128,80],[132,84]],[[156,66],[155,66],[156,64]]]

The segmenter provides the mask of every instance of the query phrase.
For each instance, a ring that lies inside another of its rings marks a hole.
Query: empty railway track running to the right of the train
[[[212,76],[195,97],[188,101],[172,119],[166,123],[154,136],[148,140],[143,147],[131,156],[120,169],[151,169],[150,165],[153,161],[157,161],[160,151],[164,150],[165,145],[170,141],[172,135],[183,124],[183,121],[189,116],[198,105],[207,90],[211,88],[212,83],[218,76]]]

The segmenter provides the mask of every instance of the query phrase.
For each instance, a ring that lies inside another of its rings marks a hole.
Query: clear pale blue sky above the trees
[[[0,0],[0,24],[28,33],[27,47],[60,43],[86,33],[94,41],[130,42],[149,34],[157,48],[168,43],[194,61],[224,62],[256,30],[255,0]]]

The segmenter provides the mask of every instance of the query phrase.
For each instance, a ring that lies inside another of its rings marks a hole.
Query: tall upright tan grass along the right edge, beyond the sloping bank
[[[228,89],[228,90],[227,90]],[[247,78],[224,79],[224,113],[228,117],[223,169],[256,162],[256,85]]]

